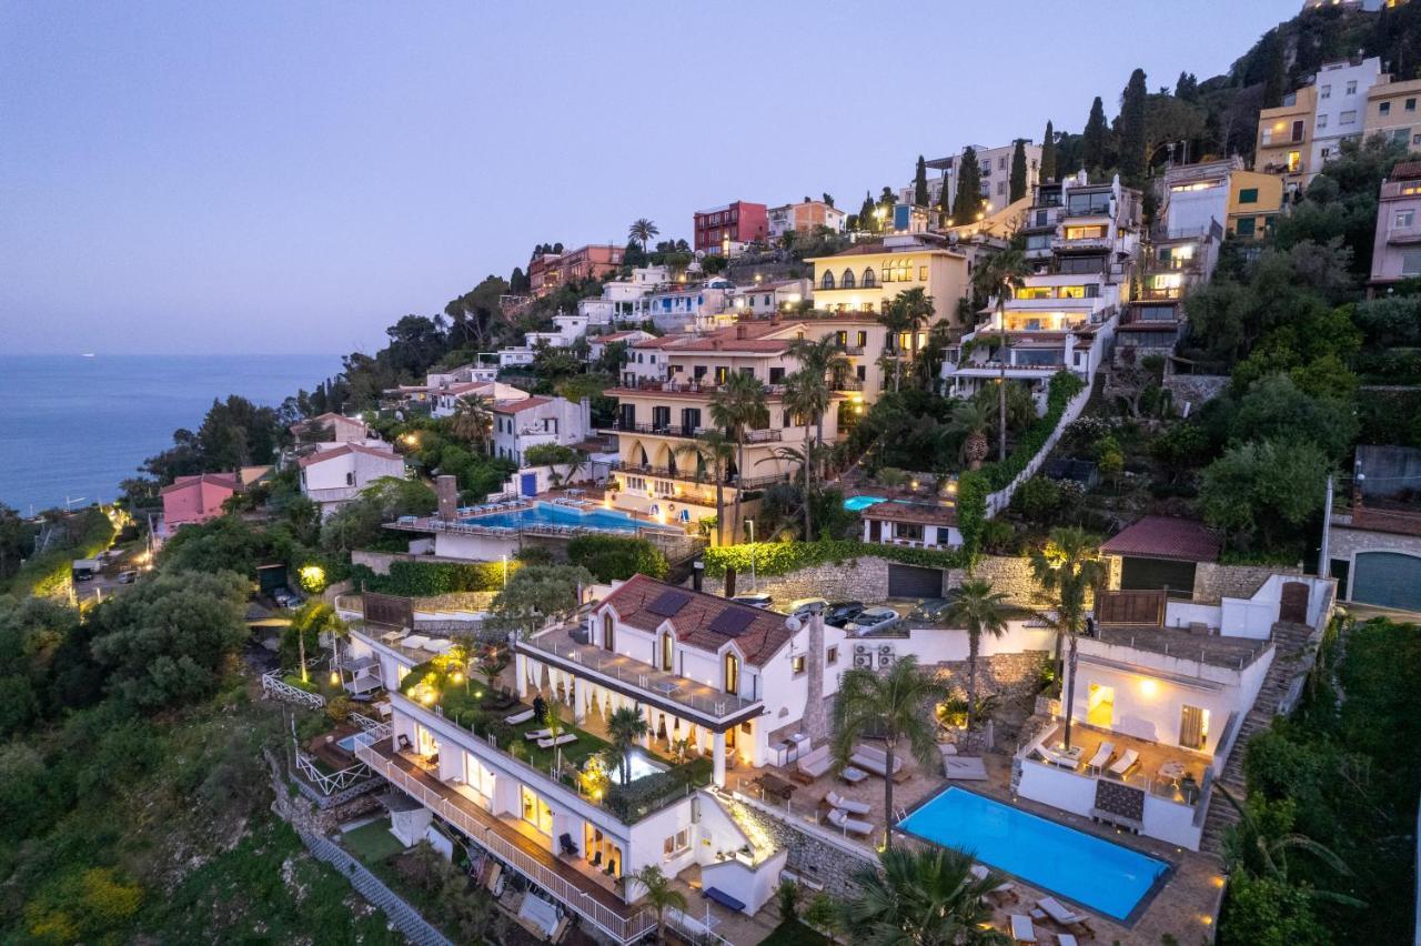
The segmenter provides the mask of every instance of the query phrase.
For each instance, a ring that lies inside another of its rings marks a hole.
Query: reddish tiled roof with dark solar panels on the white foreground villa
[[[648,605],[668,591],[684,594],[686,604],[669,618],[648,611]],[[617,611],[622,624],[648,634],[657,631],[662,624],[669,624],[675,629],[676,641],[699,651],[716,653],[728,641],[735,641],[740,653],[745,655],[746,663],[752,666],[764,666],[790,639],[790,631],[784,626],[784,615],[782,614],[736,604],[701,591],[678,588],[647,575],[632,575],[603,601],[603,608],[607,607]],[[710,629],[710,624],[726,611],[740,612],[745,615],[743,619],[749,621],[739,635],[730,636]]]

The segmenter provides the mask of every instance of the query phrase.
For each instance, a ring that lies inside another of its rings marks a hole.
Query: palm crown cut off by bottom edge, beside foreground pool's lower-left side
[[[845,940],[863,946],[983,946],[1010,943],[992,929],[986,895],[1005,878],[972,875],[956,848],[884,849],[878,866],[854,871],[860,893],[840,903]]]

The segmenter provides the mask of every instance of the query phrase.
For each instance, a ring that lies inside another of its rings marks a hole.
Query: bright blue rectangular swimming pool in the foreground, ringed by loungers
[[[988,866],[1114,919],[1130,916],[1169,869],[1164,861],[956,787],[898,827],[926,841],[971,851]]]

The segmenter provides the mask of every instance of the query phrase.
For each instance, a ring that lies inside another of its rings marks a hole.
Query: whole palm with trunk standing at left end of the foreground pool
[[[844,672],[834,697],[834,761],[848,766],[854,743],[874,734],[884,740],[888,778],[884,778],[884,847],[892,844],[892,767],[899,744],[924,766],[938,756],[936,724],[929,706],[946,699],[938,678],[905,656],[884,672],[853,668]]]

